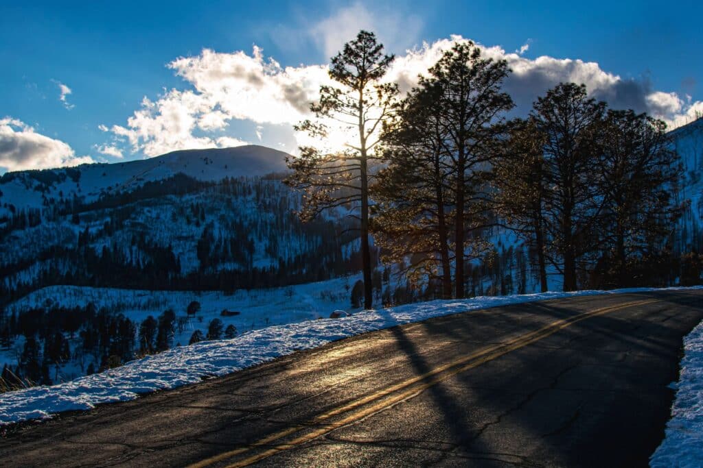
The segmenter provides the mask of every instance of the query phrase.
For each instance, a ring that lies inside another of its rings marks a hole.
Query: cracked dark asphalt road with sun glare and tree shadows
[[[577,297],[368,333],[0,439],[11,466],[638,467],[703,291]]]

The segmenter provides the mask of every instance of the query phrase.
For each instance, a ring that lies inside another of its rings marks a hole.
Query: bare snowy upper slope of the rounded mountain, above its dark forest
[[[202,182],[282,173],[287,170],[286,156],[288,154],[276,149],[246,145],[186,149],[124,163],[6,173],[0,178],[0,218],[8,214],[10,205],[16,210],[41,208],[51,200],[74,197],[90,202],[103,194],[131,190],[145,182],[167,179],[178,173]]]

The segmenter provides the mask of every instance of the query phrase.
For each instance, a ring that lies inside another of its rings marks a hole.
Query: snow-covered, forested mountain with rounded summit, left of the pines
[[[299,221],[285,156],[252,145],[5,174],[0,302],[56,284],[236,290],[357,269],[347,218]]]

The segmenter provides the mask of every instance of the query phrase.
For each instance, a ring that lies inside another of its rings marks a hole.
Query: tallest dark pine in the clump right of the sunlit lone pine
[[[472,241],[478,236],[473,234],[482,231],[489,222],[487,170],[496,156],[498,137],[505,131],[503,113],[513,107],[510,95],[501,92],[510,69],[505,60],[484,58],[472,41],[464,41],[446,51],[429,72],[429,83],[440,91],[437,96],[440,121],[447,135],[444,149],[455,206],[455,295],[461,298],[465,296],[468,242],[478,246],[479,243]],[[471,250],[470,258],[482,253]]]

